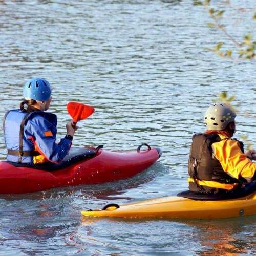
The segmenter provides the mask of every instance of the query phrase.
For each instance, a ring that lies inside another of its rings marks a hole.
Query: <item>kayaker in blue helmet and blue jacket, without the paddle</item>
[[[30,79],[24,86],[20,109],[10,110],[4,118],[7,160],[16,163],[59,163],[69,152],[77,126],[66,124],[67,135],[56,143],[57,117],[47,113],[52,100],[50,83]],[[25,108],[27,105],[27,108]]]

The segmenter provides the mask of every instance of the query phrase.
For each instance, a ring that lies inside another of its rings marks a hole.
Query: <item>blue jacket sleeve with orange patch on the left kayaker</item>
[[[34,116],[28,120],[25,136],[31,139],[36,149],[47,160],[59,163],[69,152],[72,138],[62,138],[56,143],[56,127],[42,116]]]

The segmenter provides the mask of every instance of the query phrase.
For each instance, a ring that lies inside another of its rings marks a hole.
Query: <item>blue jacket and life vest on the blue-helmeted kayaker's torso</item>
[[[28,113],[21,110],[7,112],[4,120],[7,160],[33,164],[34,156],[43,155],[48,161],[59,163],[68,154],[72,142],[62,138],[57,144],[56,132],[57,117],[52,113]]]

